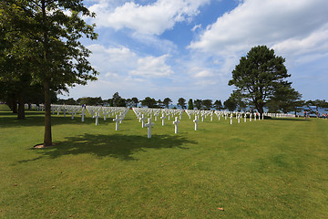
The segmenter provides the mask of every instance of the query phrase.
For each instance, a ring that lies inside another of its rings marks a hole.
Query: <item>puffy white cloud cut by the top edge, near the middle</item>
[[[160,35],[173,28],[175,23],[190,21],[200,13],[199,7],[210,0],[158,0],[151,5],[127,2],[115,9],[108,2],[100,1],[89,7],[96,12],[97,26],[108,26],[116,30],[132,29],[144,35]]]

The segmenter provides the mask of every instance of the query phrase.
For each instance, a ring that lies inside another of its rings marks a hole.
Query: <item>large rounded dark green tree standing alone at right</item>
[[[263,107],[274,97],[277,89],[290,86],[285,78],[291,77],[283,65],[285,59],[266,46],[252,47],[246,57],[232,71],[229,85],[234,85],[241,98],[250,101],[263,113]]]

